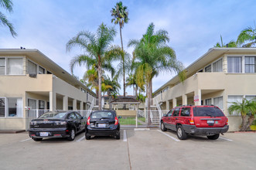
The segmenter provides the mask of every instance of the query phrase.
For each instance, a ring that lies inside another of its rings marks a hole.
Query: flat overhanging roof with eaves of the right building
[[[189,66],[187,66],[184,70],[186,70],[186,76],[192,76],[194,73],[196,73],[198,70],[203,68],[203,66],[207,65],[207,63],[212,62],[214,59],[218,59],[220,56],[223,56],[224,54],[255,54],[256,55],[256,48],[211,48],[207,51],[207,53],[203,54],[200,58],[196,59],[193,63],[191,63]],[[155,90],[153,93],[158,93],[160,90],[164,89],[165,87],[169,85],[174,85],[176,83],[179,83],[179,76],[173,76],[171,80],[166,82],[162,85],[162,87],[159,87],[159,89]]]

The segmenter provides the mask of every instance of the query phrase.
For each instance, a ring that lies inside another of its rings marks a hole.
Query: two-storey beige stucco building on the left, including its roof
[[[95,93],[38,49],[0,49],[0,130],[26,128],[26,109],[86,110]]]

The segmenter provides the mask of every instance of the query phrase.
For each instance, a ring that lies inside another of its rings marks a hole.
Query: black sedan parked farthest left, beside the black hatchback
[[[76,134],[84,131],[85,117],[76,111],[49,111],[30,121],[29,137],[34,141],[43,138],[67,138],[73,141]]]

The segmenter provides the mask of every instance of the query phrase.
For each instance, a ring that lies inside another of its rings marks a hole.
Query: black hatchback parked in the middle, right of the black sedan
[[[85,138],[91,136],[114,136],[120,139],[120,124],[115,110],[97,110],[87,118]]]

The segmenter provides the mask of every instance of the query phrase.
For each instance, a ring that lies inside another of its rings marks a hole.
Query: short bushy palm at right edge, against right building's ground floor
[[[234,111],[237,111],[241,114],[242,124],[241,131],[246,131],[254,121],[254,115],[256,113],[256,102],[255,100],[247,100],[243,98],[242,102],[230,102],[232,104],[228,107],[228,112],[232,114]],[[246,122],[246,116],[249,115],[249,118]]]

